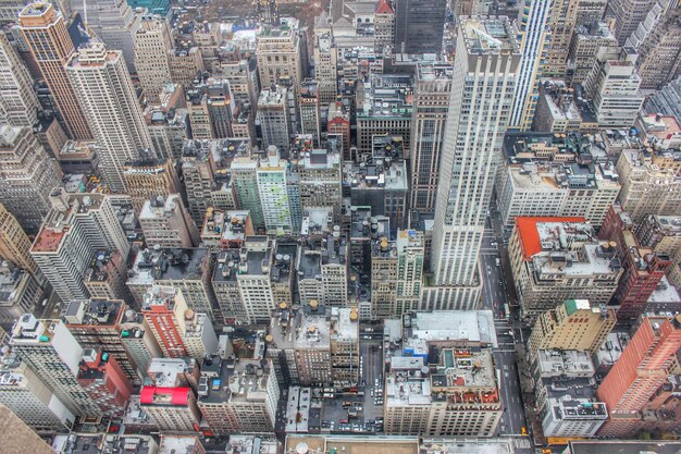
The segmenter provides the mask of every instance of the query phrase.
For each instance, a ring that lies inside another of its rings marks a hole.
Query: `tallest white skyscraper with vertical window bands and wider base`
[[[473,308],[478,256],[510,118],[520,47],[507,19],[461,17],[435,201],[430,308]]]

